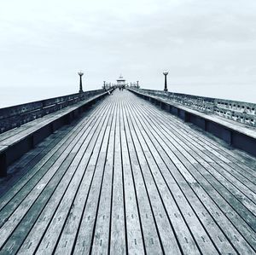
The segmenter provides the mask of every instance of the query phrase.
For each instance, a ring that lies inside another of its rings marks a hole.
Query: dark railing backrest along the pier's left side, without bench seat
[[[90,90],[67,96],[58,96],[41,101],[32,101],[14,107],[0,108],[0,134],[24,125],[46,114],[56,112],[63,107],[71,106],[79,101],[89,99],[105,90]]]

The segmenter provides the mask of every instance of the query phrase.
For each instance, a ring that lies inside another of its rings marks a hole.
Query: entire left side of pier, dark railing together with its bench
[[[79,119],[112,90],[87,91],[0,109],[1,130],[5,131],[0,135],[0,177],[6,177],[8,166],[16,159],[55,130]]]

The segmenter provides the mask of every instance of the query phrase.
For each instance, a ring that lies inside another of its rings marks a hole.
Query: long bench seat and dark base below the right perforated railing
[[[212,133],[214,136],[224,140],[234,148],[240,148],[241,150],[256,156],[255,128],[231,122],[228,119],[220,119],[218,116],[214,116],[211,113],[201,113],[158,96],[144,94],[137,90],[130,91],[145,100],[159,105],[162,109],[176,115],[185,122],[197,125],[202,130]]]

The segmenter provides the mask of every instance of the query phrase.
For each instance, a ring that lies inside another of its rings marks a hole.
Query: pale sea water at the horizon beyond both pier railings
[[[143,86],[142,86],[143,88]],[[100,89],[95,88],[95,90]],[[145,89],[161,90],[160,87],[153,85],[145,86]],[[90,88],[93,90],[93,88]],[[168,84],[168,90],[177,93],[184,93],[196,96],[209,96],[235,101],[247,101],[256,103],[256,85],[252,84],[193,84],[180,85]],[[15,106],[18,104],[43,100],[55,96],[65,96],[76,93],[73,88],[63,87],[19,87],[19,88],[0,88],[0,108]]]

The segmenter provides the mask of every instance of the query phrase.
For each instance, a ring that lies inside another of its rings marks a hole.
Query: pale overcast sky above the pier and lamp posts
[[[3,90],[74,93],[80,69],[84,90],[120,73],[162,90],[168,69],[169,90],[255,91],[255,0],[0,0],[0,36]]]

